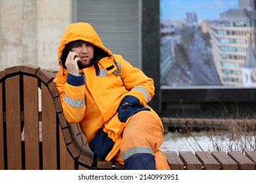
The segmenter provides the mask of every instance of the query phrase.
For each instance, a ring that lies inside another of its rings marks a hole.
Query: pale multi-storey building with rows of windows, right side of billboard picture
[[[248,77],[248,73],[252,73],[252,78],[256,69],[256,63],[251,64],[256,61],[255,59],[245,63],[249,60],[247,50],[251,48],[250,51],[254,52],[256,48],[256,19],[255,16],[251,16],[255,14],[254,1],[243,0],[239,5],[241,7],[238,9],[223,12],[221,18],[211,24],[209,31],[213,61],[224,86],[245,86],[253,83],[253,80],[245,82],[244,76]],[[248,71],[248,65],[251,71]]]

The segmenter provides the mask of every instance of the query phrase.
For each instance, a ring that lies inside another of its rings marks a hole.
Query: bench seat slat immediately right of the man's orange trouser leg
[[[164,152],[165,156],[167,158],[167,161],[169,163],[169,167],[172,170],[183,170],[184,169],[184,163],[181,161],[181,158],[179,158],[177,152]]]

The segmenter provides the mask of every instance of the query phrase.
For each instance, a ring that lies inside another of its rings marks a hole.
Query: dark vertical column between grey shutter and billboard
[[[142,70],[154,79],[150,106],[161,113],[160,92],[160,0],[142,0]]]

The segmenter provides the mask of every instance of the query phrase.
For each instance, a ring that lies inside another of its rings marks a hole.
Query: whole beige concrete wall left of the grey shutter
[[[14,65],[58,70],[58,43],[72,0],[0,0],[0,71]]]

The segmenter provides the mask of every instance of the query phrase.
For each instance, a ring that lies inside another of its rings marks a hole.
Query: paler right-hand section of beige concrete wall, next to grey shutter
[[[72,0],[37,0],[37,60],[41,68],[58,70],[58,44],[72,22]]]

